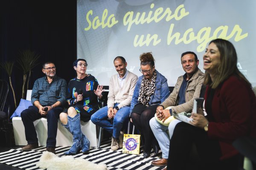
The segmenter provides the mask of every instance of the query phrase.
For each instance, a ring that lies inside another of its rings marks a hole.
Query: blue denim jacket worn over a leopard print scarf
[[[140,85],[141,85],[143,76],[139,77],[134,89],[134,94],[131,100],[130,116],[134,106],[138,104]],[[152,94],[150,97],[149,105],[160,105],[160,103],[162,103],[169,96],[169,94],[170,94],[170,91],[167,84],[167,79],[157,71],[156,88],[155,88],[154,94]]]

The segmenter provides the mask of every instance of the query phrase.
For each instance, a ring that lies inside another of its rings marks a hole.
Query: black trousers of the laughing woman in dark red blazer
[[[239,155],[220,161],[221,149],[218,140],[209,139],[203,129],[180,122],[175,126],[170,140],[168,170],[191,170],[189,156],[195,144],[200,157],[197,170],[237,170]]]

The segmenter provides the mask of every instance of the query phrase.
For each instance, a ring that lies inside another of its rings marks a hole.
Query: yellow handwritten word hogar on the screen
[[[227,35],[227,31],[228,31],[228,26],[219,26],[218,28],[216,28],[213,31],[212,37],[210,37],[212,28],[211,27],[204,27],[201,28],[197,35],[195,35],[195,32],[193,31],[193,28],[189,28],[187,29],[184,34],[183,37],[180,37],[180,33],[176,32],[175,34],[172,34],[174,28],[174,24],[171,24],[170,28],[169,28],[169,32],[168,32],[168,37],[167,37],[167,45],[170,45],[170,43],[172,42],[172,40],[175,39],[175,44],[179,44],[180,42],[183,42],[184,44],[189,44],[190,42],[197,40],[198,42],[198,47],[197,47],[197,51],[198,52],[202,52],[205,50],[207,44],[211,41],[214,40],[216,38],[221,38],[221,39],[225,39],[225,40],[229,40],[232,37],[235,36],[234,40],[235,41],[240,41],[242,39],[244,39],[245,37],[248,36],[248,33],[242,34],[242,29],[240,28],[239,25],[235,25],[233,27],[233,30],[231,31],[231,33],[229,35]]]

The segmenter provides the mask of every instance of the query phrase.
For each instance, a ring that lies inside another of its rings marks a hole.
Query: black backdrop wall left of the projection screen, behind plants
[[[52,61],[57,75],[66,79],[75,76],[72,63],[76,60],[76,0],[1,0],[0,1],[0,62],[16,61],[19,51],[30,49],[40,54],[40,64],[32,71],[29,89],[43,76],[42,64]],[[0,79],[9,82],[3,69]],[[17,62],[12,72],[12,84],[17,105],[20,102],[23,71]],[[25,89],[26,90],[26,89]],[[12,91],[7,105],[14,111]]]

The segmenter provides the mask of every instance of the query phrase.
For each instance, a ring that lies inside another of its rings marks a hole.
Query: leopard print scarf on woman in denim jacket
[[[142,79],[141,85],[140,85],[140,93],[138,102],[142,103],[143,105],[148,106],[150,102],[150,97],[152,94],[154,94],[155,88],[156,88],[156,79],[157,79],[157,71],[154,70],[153,77],[151,78],[151,81],[147,79],[145,76]]]

